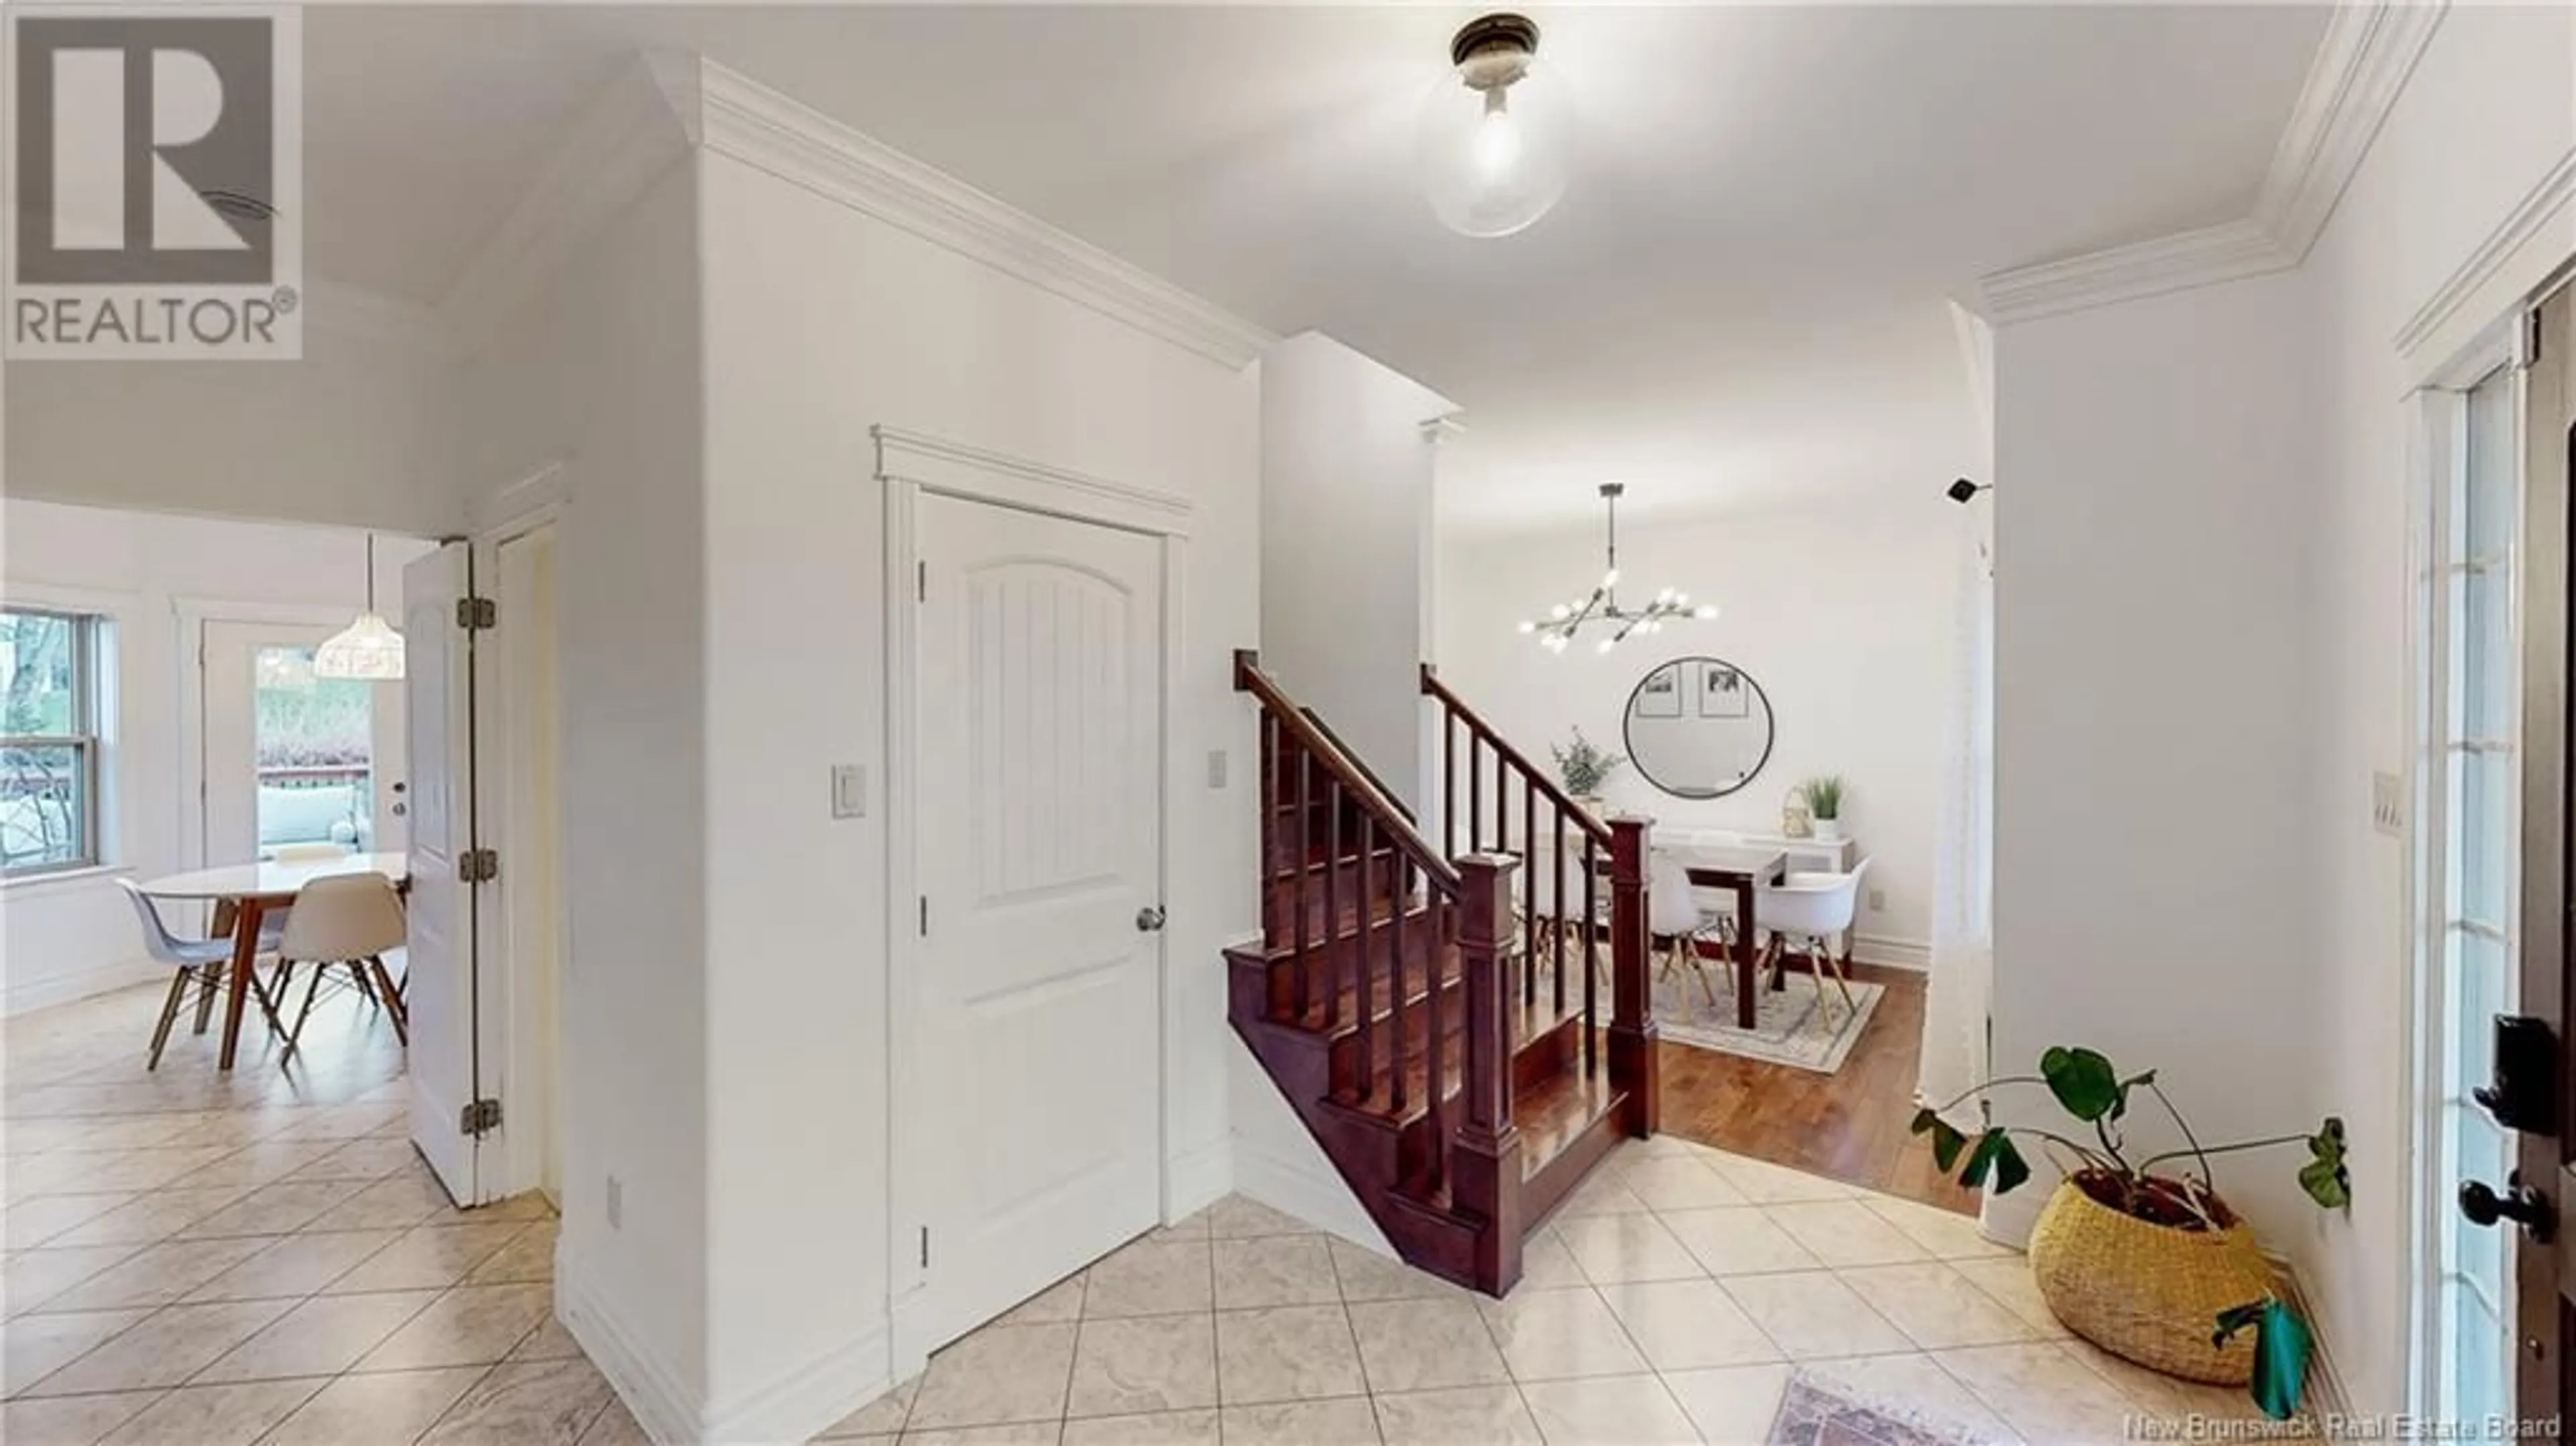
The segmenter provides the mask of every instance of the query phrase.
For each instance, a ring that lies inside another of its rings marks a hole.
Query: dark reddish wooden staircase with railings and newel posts
[[[1396,1253],[1499,1297],[1528,1227],[1654,1132],[1646,825],[1595,820],[1425,668],[1435,848],[1257,655],[1234,686],[1262,727],[1262,943],[1226,954],[1234,1031]],[[1607,902],[1605,928],[1515,915],[1525,858],[1556,874],[1533,897],[1579,920]]]

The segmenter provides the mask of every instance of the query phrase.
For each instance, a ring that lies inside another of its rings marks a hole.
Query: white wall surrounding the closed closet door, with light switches
[[[1234,371],[721,155],[706,245],[708,1412],[886,1371],[886,768],[876,423],[1188,495],[1172,660],[1180,1191],[1224,1188],[1221,943],[1257,920],[1257,371]],[[1211,791],[1208,753],[1231,755]],[[1208,1162],[1216,1160],[1213,1173]],[[1175,1209],[1190,1209],[1182,1196]],[[811,1425],[819,1428],[829,1418]]]

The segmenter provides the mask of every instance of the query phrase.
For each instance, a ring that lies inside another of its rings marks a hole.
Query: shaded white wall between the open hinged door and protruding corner
[[[698,178],[672,165],[456,379],[453,510],[551,495],[562,647],[556,1307],[621,1384],[708,1382]],[[551,469],[551,472],[549,472]],[[531,482],[538,479],[538,482]],[[742,959],[742,956],[737,956]],[[796,1016],[793,995],[773,1018]],[[801,1101],[811,1124],[827,1101]],[[608,1224],[608,1181],[623,1224]]]

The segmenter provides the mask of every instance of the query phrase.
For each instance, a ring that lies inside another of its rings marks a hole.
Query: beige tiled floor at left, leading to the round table
[[[307,1062],[144,1044],[160,987],[21,1016],[0,1072],[10,1446],[641,1443],[554,1325],[554,1219],[459,1211],[353,998]]]

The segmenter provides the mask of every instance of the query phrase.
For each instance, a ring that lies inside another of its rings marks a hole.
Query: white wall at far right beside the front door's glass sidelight
[[[2576,152],[2576,10],[2455,5],[2308,258],[2316,291],[2318,492],[2308,848],[2318,1108],[2352,1129],[2352,1219],[2316,1219],[2300,1258],[2357,1410],[2403,1389],[2406,1211],[2414,1103],[2396,1067],[2411,1028],[2403,845],[2370,827],[2370,773],[2406,766],[2406,389],[2576,255],[2576,204],[2509,260],[2452,322],[2401,358],[2391,338],[2514,206]],[[2445,1188],[2447,1196],[2447,1188]],[[2447,1217],[2447,1201],[2439,1201]]]

